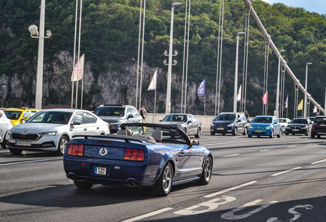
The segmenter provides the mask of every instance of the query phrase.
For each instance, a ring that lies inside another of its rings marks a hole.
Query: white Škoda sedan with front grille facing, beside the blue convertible
[[[45,109],[26,123],[12,127],[6,145],[12,154],[55,151],[62,156],[72,136],[106,134],[110,134],[109,124],[87,110]]]

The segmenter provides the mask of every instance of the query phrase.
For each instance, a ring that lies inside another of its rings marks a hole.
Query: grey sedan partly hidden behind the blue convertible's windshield
[[[169,114],[158,124],[179,126],[188,136],[194,135],[196,138],[201,134],[201,122],[191,114]]]

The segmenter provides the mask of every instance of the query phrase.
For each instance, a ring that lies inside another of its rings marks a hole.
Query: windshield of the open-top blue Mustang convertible
[[[132,131],[133,136],[151,138],[152,132],[154,130],[162,131],[162,141],[167,143],[184,143],[187,144],[187,141],[173,128],[164,128],[164,127],[149,127],[149,126],[128,126],[126,129]]]

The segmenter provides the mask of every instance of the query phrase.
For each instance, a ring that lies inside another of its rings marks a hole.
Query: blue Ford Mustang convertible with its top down
[[[167,196],[172,185],[210,182],[212,153],[179,127],[124,123],[121,129],[117,135],[75,136],[68,142],[64,169],[77,188],[146,186]]]

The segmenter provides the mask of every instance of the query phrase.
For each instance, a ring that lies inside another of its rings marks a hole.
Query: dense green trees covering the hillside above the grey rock
[[[174,72],[182,75],[184,51],[185,1],[175,7],[174,50],[179,52],[178,65]],[[164,50],[168,50],[171,18],[171,1],[147,0],[145,25],[144,61],[153,67],[162,64]],[[38,41],[30,38],[28,27],[39,25],[40,1],[3,0],[0,2],[0,74],[22,75],[32,69],[33,59],[37,57]],[[117,64],[111,69],[119,69],[118,64],[137,59],[138,26],[140,1],[136,0],[84,0],[81,30],[81,54],[92,62],[95,78],[109,69],[108,63]],[[190,40],[189,40],[189,82],[199,84],[207,78],[207,87],[214,89],[216,84],[217,36],[220,2],[217,0],[193,0],[191,2]],[[303,8],[287,7],[253,1],[253,8],[271,35],[278,49],[286,49],[283,58],[304,83],[305,64],[309,67],[309,88],[312,97],[323,107],[326,70],[326,20],[325,15],[311,13]],[[78,9],[79,11],[79,9]],[[60,50],[73,51],[75,1],[47,0],[45,27],[51,29],[52,38],[45,44],[45,62],[51,61]],[[242,0],[225,0],[223,27],[221,95],[225,100],[224,111],[233,109],[233,88],[235,68],[236,33],[244,31],[246,10]],[[251,116],[261,114],[264,76],[265,42],[253,18],[250,18],[248,84],[246,109]],[[242,54],[242,55],[241,55]],[[239,80],[242,83],[243,36],[239,49]],[[278,60],[270,51],[269,60],[269,114],[273,114],[276,101],[276,80]],[[33,69],[36,74],[36,70]],[[161,82],[158,91],[166,90]],[[147,86],[145,85],[144,88]],[[173,92],[172,92],[173,93]],[[174,93],[177,93],[174,92]],[[53,93],[52,93],[53,94]],[[293,117],[294,84],[286,75],[285,95],[289,94],[289,117]],[[146,90],[144,91],[146,96]],[[299,93],[299,101],[303,94]],[[51,100],[51,98],[50,98]],[[284,99],[285,100],[285,99]],[[200,101],[198,108],[202,108]],[[162,103],[162,102],[160,102]],[[158,104],[160,104],[158,103]],[[162,105],[162,104],[161,104]],[[214,108],[211,103],[210,107]],[[311,111],[312,113],[312,106]],[[162,107],[161,107],[162,109]],[[214,113],[214,112],[213,112]],[[211,113],[211,114],[213,114]],[[291,116],[291,115],[292,116]]]

